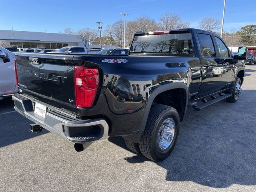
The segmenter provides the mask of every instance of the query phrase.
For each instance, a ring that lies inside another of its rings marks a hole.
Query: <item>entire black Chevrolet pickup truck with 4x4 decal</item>
[[[174,148],[187,106],[201,110],[242,91],[246,47],[232,56],[198,29],[138,32],[124,56],[16,53],[15,110],[82,151],[107,136],[154,161]]]

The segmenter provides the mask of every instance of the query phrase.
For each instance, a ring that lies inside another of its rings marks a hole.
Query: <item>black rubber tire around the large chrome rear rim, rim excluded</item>
[[[158,146],[158,134],[160,133],[161,125],[166,119],[169,118],[172,119],[174,123],[174,135],[170,145],[165,150],[160,150]],[[179,122],[179,114],[175,108],[159,104],[153,106],[148,115],[148,121],[142,141],[139,143],[140,152],[146,158],[156,162],[166,159],[176,144],[176,139],[179,132]]]

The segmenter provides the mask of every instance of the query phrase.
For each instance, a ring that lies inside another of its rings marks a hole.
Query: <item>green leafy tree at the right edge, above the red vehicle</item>
[[[252,46],[256,44],[256,25],[241,27],[241,30],[237,34],[240,36],[240,40],[244,45]]]

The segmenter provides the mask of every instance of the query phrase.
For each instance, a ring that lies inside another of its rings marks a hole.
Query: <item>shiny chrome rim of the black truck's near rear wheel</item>
[[[166,150],[172,144],[174,133],[175,122],[172,118],[167,118],[158,131],[158,148],[161,151]]]

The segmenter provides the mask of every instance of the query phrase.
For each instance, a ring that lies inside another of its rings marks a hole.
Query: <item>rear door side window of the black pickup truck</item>
[[[198,34],[200,47],[204,57],[216,57],[212,38],[207,34]]]

